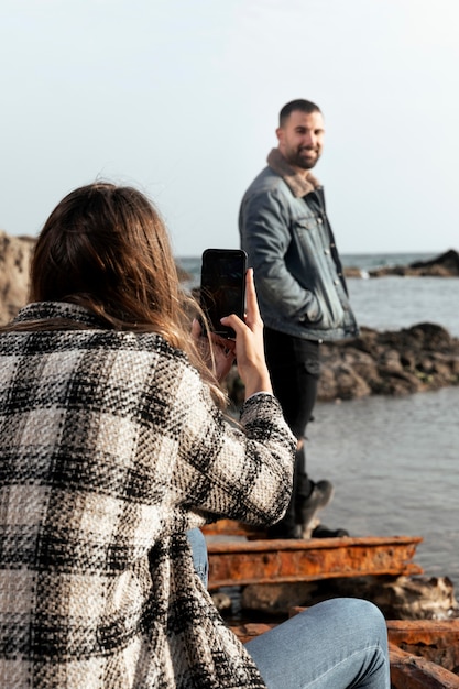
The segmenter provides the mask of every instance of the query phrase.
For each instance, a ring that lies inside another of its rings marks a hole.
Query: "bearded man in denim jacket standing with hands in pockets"
[[[306,472],[304,438],[317,396],[319,346],[358,333],[324,189],[310,169],[324,147],[324,118],[308,100],[280,113],[278,145],[242,199],[241,247],[254,269],[274,393],[298,439],[292,501],[274,538],[346,535],[317,526],[332,497],[329,481]]]

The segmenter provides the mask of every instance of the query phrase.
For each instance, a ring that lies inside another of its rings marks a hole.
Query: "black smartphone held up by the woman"
[[[200,272],[200,306],[212,332],[233,339],[232,328],[220,318],[236,314],[243,320],[245,310],[247,253],[240,249],[206,249]]]

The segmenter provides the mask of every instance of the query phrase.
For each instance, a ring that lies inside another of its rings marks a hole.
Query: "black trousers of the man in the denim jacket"
[[[285,420],[298,438],[305,437],[312,419],[320,375],[319,343],[264,328],[266,363],[274,394],[281,403]],[[306,452],[296,452],[292,500],[284,518],[273,527],[289,531],[295,524],[295,505],[309,496],[314,483],[306,471]]]

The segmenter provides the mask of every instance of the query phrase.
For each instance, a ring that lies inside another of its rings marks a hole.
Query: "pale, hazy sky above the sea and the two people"
[[[0,228],[36,236],[96,179],[149,195],[174,254],[238,210],[316,102],[341,253],[459,250],[458,0],[2,0]]]

